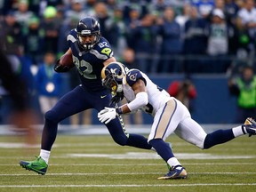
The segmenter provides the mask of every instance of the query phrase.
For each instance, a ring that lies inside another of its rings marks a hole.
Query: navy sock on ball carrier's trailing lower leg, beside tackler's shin
[[[126,142],[126,146],[132,146],[135,148],[144,148],[144,149],[152,148],[152,146],[148,144],[148,139],[138,134],[129,134],[129,138]]]

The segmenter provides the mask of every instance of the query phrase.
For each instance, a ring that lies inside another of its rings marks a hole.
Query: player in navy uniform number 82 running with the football
[[[100,111],[109,106],[112,98],[111,92],[101,84],[100,73],[104,66],[116,59],[108,40],[100,36],[98,20],[92,17],[80,20],[76,28],[70,31],[67,39],[69,49],[66,55],[72,53],[75,65],[64,65],[60,62],[60,57],[55,70],[66,72],[76,66],[82,84],[60,98],[58,103],[45,113],[41,150],[36,160],[20,161],[23,168],[39,174],[45,174],[47,171],[50,152],[60,121],[88,108]],[[125,132],[123,125],[121,116],[106,124],[108,132],[117,144],[136,148],[152,148],[143,136]]]

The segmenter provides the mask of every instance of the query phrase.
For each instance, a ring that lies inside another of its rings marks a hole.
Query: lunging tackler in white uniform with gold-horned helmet
[[[194,121],[188,108],[180,100],[171,97],[168,92],[154,84],[147,75],[138,69],[127,69],[122,63],[113,62],[101,72],[102,84],[113,93],[123,92],[128,103],[117,108],[104,108],[98,114],[101,123],[108,124],[116,116],[142,109],[154,117],[148,143],[167,163],[169,172],[159,180],[185,179],[188,172],[173,155],[172,148],[164,140],[175,132],[181,139],[196,145],[198,148],[212,148],[238,136],[256,134],[256,123],[247,118],[241,126],[228,130],[218,130],[207,134]],[[118,97],[116,95],[115,97]]]

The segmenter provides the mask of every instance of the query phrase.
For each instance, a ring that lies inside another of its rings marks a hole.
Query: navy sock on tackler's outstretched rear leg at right
[[[234,138],[235,136],[232,129],[218,130],[216,132],[207,134],[204,140],[204,148],[212,148],[212,146],[228,142],[229,140],[233,140]]]

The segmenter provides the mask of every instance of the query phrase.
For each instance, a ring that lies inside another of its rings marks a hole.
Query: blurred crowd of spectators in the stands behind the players
[[[54,62],[68,49],[69,31],[87,15],[100,21],[101,35],[128,68],[186,76],[255,68],[253,0],[0,0],[0,44],[40,102],[51,98],[48,108],[61,92]],[[69,76],[72,88],[78,82]]]

